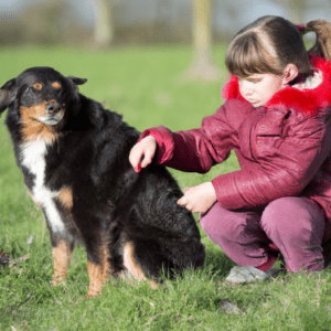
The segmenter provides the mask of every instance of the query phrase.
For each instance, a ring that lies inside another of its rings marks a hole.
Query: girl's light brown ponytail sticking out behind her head
[[[327,61],[331,61],[331,23],[325,20],[310,21],[309,23],[297,25],[301,35],[308,32],[316,32],[316,43],[308,51],[318,56],[324,57]]]

